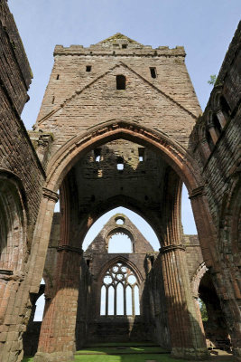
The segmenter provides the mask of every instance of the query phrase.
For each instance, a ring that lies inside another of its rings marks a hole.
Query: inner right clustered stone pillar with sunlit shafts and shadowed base
[[[172,244],[160,249],[171,334],[171,355],[187,359],[208,357],[205,337],[190,291],[185,249]]]

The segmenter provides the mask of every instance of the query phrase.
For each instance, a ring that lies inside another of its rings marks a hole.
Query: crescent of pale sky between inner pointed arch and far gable
[[[107,224],[109,219],[115,214],[125,214],[125,216],[127,216],[131,220],[131,222],[137,227],[137,229],[144,235],[145,239],[148,240],[149,243],[151,243],[154,251],[159,251],[160,243],[150,224],[148,224],[139,214],[136,214],[133,211],[122,206],[116,207],[115,209],[108,211],[106,214],[103,214],[90,227],[82,245],[82,249],[84,251],[87,250],[88,245],[93,242],[97,234],[103,229],[105,224]]]

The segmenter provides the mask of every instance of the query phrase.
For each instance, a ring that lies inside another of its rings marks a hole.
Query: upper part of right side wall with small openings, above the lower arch
[[[190,145],[202,171],[204,193],[218,229],[225,196],[231,191],[240,164],[241,23],[230,43],[208,105],[194,127]],[[210,137],[216,135],[216,142]]]

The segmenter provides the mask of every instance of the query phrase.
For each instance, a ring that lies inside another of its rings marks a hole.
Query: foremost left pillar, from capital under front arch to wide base
[[[38,293],[51,233],[52,214],[58,195],[43,188],[42,202],[32,239],[31,254],[26,263],[27,272],[5,275],[5,320],[0,326],[0,361],[13,362],[23,358],[23,332],[31,315],[29,293]],[[2,347],[1,347],[2,345]]]

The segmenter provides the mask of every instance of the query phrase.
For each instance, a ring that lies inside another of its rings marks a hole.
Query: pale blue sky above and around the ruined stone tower
[[[190,78],[204,110],[211,90],[209,76],[218,74],[241,14],[240,0],[8,0],[8,4],[34,77],[22,114],[27,129],[41,106],[55,44],[88,46],[114,33],[153,47],[184,45]],[[185,233],[195,233],[186,190],[182,211]],[[110,215],[99,222],[89,240]]]

